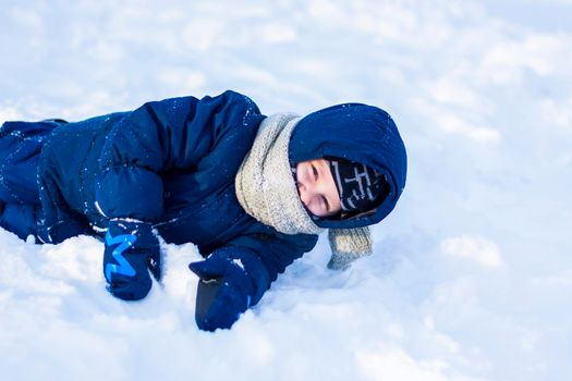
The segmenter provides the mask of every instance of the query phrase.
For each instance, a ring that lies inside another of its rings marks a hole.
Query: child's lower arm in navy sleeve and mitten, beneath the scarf
[[[287,266],[309,251],[316,235],[241,236],[190,269],[199,276],[195,319],[202,330],[231,328],[256,305]]]

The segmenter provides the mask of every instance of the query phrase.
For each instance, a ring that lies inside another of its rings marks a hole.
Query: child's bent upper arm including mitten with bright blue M
[[[220,145],[247,151],[236,135],[256,128],[263,118],[248,98],[227,91],[200,100],[148,102],[117,123],[101,151],[96,182],[97,206],[110,218],[104,272],[114,296],[141,299],[151,286],[147,269],[160,276],[159,243],[150,222],[163,213],[161,173],[193,170]]]

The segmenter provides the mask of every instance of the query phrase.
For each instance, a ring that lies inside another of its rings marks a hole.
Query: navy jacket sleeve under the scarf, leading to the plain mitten
[[[242,235],[216,249],[211,256],[241,262],[255,288],[251,300],[251,306],[254,306],[270,288],[278,274],[284,272],[285,268],[304,253],[312,250],[317,241],[317,235],[308,234]]]

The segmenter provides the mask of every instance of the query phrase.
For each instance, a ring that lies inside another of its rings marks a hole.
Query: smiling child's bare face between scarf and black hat
[[[299,162],[296,185],[300,199],[317,217],[327,217],[341,210],[340,196],[326,159]]]

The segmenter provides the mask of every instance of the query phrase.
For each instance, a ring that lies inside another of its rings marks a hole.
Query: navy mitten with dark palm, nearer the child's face
[[[199,329],[229,329],[254,302],[255,285],[240,259],[215,253],[188,268],[200,278],[195,309]]]

